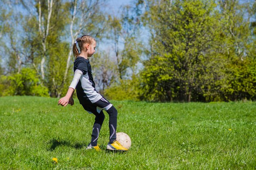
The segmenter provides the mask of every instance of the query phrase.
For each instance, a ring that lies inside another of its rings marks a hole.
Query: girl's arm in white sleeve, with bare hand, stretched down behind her
[[[74,100],[72,97],[73,97],[74,91],[76,89],[76,85],[79,82],[82,74],[83,74],[83,72],[81,70],[76,70],[74,72],[74,78],[70,84],[70,87],[67,90],[67,94],[65,97],[58,100],[58,105],[61,105],[64,107],[66,107],[67,104],[74,105]]]

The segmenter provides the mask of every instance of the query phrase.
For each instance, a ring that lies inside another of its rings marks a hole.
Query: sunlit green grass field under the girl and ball
[[[256,102],[112,101],[117,131],[132,140],[126,153],[106,150],[106,112],[102,150],[86,150],[94,116],[78,100],[57,102],[0,98],[0,169],[256,169]]]

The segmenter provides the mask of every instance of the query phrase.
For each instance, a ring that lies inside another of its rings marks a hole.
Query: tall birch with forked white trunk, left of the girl
[[[62,39],[70,4],[62,0],[37,0],[22,1],[22,7],[27,9],[26,20],[21,23],[26,35],[22,39],[26,63],[40,75],[40,83],[49,88],[50,95],[57,96],[58,85],[52,82],[61,78],[58,72],[64,70],[68,47]]]

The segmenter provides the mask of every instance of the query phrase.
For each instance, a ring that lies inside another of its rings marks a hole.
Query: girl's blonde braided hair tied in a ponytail
[[[83,35],[82,37],[76,39],[76,42],[73,45],[73,55],[76,59],[76,57],[79,55],[79,50],[76,47],[76,43],[78,43],[78,46],[80,48],[80,52],[83,51],[84,49],[84,44],[93,44],[95,41],[95,39],[93,37],[91,37],[90,35]]]

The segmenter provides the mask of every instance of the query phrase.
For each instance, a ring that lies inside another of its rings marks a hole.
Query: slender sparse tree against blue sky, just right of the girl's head
[[[114,45],[119,79],[130,78],[137,71],[137,64],[143,53],[142,41],[139,39],[139,22],[132,7],[123,7],[120,17],[108,17],[108,38]]]

